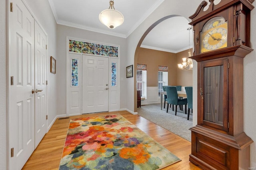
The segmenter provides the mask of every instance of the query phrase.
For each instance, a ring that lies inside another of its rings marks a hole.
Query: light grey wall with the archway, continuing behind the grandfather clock
[[[169,16],[169,15],[180,15],[187,18],[188,21],[191,21],[188,17],[194,14],[198,5],[202,2],[202,0],[165,0],[128,38],[127,38],[127,64],[134,63],[134,53],[136,46],[144,34],[144,32],[157,20]],[[253,3],[256,6],[256,2]],[[252,10],[251,13],[251,42],[252,48],[256,50],[256,9]],[[256,105],[255,105],[255,96],[256,90],[254,88],[256,84],[256,51],[252,51],[244,58],[244,132],[248,136],[252,138],[255,142],[250,145],[250,160],[251,167],[256,167],[256,133],[255,133],[255,122],[256,122]],[[194,61],[195,62],[195,61]],[[197,64],[194,64],[193,70],[197,70]],[[127,91],[133,92],[134,79],[128,79],[127,81]],[[196,91],[196,82],[197,82],[197,72],[193,71],[193,88],[194,95],[197,94]],[[127,100],[132,101],[128,103],[127,108],[134,111],[133,101],[134,101],[134,93],[128,93]],[[194,96],[194,101],[196,101],[196,97]],[[196,108],[197,102],[193,103],[193,107]],[[197,110],[193,109],[193,118],[196,118]],[[196,123],[193,123],[196,125]]]

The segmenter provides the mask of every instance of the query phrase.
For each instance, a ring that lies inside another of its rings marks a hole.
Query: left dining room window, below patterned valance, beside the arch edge
[[[137,90],[140,90],[141,97],[146,98],[147,93],[147,71],[137,70]]]

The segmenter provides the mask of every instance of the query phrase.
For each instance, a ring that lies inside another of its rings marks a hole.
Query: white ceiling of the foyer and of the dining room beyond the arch
[[[124,15],[124,23],[110,29],[99,20],[101,11],[109,8],[109,0],[48,0],[57,24],[127,38],[164,0],[114,0],[114,8]],[[173,24],[175,23],[175,24]],[[180,52],[192,47],[192,30],[182,16],[158,24],[146,36],[141,47]]]

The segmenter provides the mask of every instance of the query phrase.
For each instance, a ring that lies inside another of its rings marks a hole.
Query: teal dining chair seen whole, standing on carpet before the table
[[[167,111],[168,113],[168,107],[169,104],[173,105],[172,111],[174,111],[174,105],[175,105],[175,115],[177,115],[177,105],[185,105],[185,114],[187,114],[187,99],[178,99],[178,92],[176,86],[167,86],[166,87],[166,93],[167,93]]]

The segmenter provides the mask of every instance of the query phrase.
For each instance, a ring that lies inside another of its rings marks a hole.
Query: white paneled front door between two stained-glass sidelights
[[[108,111],[108,57],[82,55],[82,113]]]

